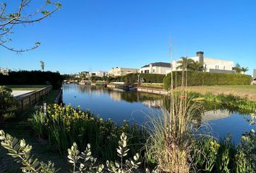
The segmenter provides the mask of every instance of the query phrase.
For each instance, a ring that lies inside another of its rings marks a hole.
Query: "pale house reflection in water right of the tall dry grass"
[[[218,120],[229,116],[231,116],[231,112],[229,110],[210,110],[205,112],[205,115],[202,115],[202,122]]]

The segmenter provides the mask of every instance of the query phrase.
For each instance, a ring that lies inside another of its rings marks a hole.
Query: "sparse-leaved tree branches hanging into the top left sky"
[[[0,45],[7,50],[11,50],[17,53],[38,48],[40,43],[36,42],[35,45],[33,45],[31,48],[26,49],[10,48],[7,43],[12,41],[9,35],[14,33],[14,27],[17,25],[26,25],[29,23],[40,22],[61,8],[60,3],[51,2],[51,0],[44,0],[45,2],[42,6],[38,7],[38,9],[36,9],[34,12],[27,14],[27,9],[30,6],[32,0],[19,1],[20,2],[17,4],[17,10],[15,12],[10,12],[10,9],[7,9],[7,3],[0,3]]]

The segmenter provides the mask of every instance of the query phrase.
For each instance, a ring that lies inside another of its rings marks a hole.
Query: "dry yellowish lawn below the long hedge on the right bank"
[[[188,86],[188,91],[213,94],[234,94],[256,101],[256,85]]]

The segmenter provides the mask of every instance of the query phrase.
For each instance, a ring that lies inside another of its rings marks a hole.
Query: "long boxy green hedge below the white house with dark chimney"
[[[182,71],[173,73],[174,86],[181,86]],[[213,85],[249,85],[252,77],[244,74],[218,74],[202,71],[187,71],[187,86],[213,86]],[[166,90],[171,86],[171,74],[163,79],[164,88]]]

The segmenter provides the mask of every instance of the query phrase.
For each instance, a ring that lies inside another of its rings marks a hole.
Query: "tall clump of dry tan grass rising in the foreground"
[[[173,73],[173,72],[172,72]],[[187,94],[186,73],[182,71],[182,90],[174,88],[171,74],[170,107],[162,115],[150,118],[150,137],[146,143],[148,155],[153,156],[162,172],[189,172],[193,148],[193,119],[202,112],[198,102]]]

